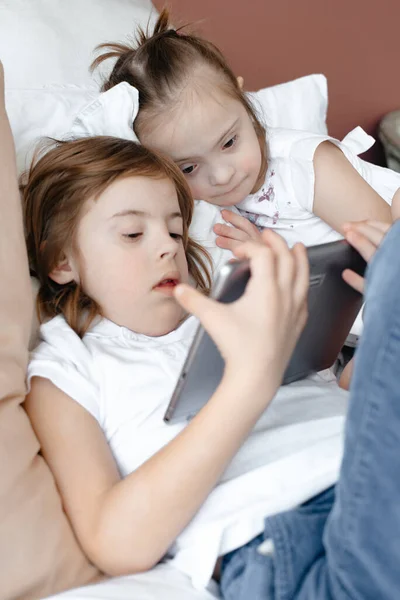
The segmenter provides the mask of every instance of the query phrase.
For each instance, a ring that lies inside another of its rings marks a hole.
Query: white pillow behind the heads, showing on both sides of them
[[[60,138],[98,91],[77,85],[6,90],[19,170],[27,167],[42,136]],[[271,127],[326,133],[327,85],[324,75],[308,75],[250,94],[261,120]]]

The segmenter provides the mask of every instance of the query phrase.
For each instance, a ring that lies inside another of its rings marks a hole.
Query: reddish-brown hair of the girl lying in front
[[[77,225],[85,202],[98,197],[123,177],[167,178],[173,183],[183,217],[189,274],[198,289],[208,293],[211,260],[189,237],[193,198],[172,161],[140,144],[112,137],[51,142],[54,147],[34,158],[29,172],[21,179],[30,266],[40,283],[37,296],[40,321],[63,314],[82,337],[95,316],[101,314],[100,307],[79,284],[59,285],[49,274],[62,261],[64,251],[75,248]]]

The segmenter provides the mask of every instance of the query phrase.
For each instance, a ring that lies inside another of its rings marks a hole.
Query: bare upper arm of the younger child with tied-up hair
[[[391,223],[390,206],[372,189],[331,142],[323,142],[314,155],[313,212],[333,229],[344,233],[348,221]]]

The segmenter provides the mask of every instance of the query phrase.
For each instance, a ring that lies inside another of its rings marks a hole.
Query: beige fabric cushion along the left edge
[[[0,62],[0,600],[94,581],[21,407],[32,320],[13,138]]]

